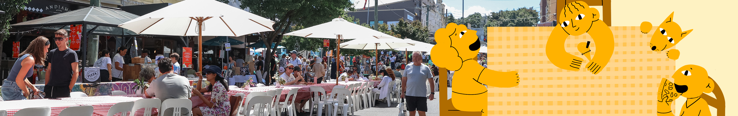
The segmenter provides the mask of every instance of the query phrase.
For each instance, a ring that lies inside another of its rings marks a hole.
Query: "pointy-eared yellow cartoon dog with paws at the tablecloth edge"
[[[641,23],[641,32],[651,32],[651,23],[644,21]],[[682,32],[682,28],[679,24],[674,22],[674,12],[669,17],[666,17],[660,25],[658,25],[658,32],[654,33],[651,37],[651,43],[649,47],[652,51],[663,51],[667,48],[677,45],[684,37],[687,37],[692,29]],[[669,59],[679,59],[679,50],[672,49],[666,51],[666,57]]]

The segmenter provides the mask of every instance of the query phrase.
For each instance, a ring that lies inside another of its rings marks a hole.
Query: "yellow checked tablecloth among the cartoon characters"
[[[658,83],[674,73],[675,60],[666,58],[666,51],[651,51],[646,45],[650,35],[641,33],[638,26],[611,26],[617,45],[615,53],[607,69],[594,75],[586,68],[562,70],[548,62],[545,44],[553,29],[552,26],[488,27],[487,44],[492,46],[488,50],[492,54],[488,57],[488,68],[518,70],[521,78],[517,87],[489,87],[489,114],[655,115]],[[597,54],[597,43],[587,34],[568,37],[565,49],[588,63],[576,49],[577,44],[587,41],[593,42],[592,55]],[[673,48],[677,47],[669,49]]]

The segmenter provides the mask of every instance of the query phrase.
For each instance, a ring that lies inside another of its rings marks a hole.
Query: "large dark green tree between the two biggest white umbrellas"
[[[274,54],[272,43],[279,46],[283,35],[292,30],[293,26],[310,27],[331,21],[333,18],[345,14],[346,10],[354,10],[353,3],[346,0],[239,0],[241,8],[249,7],[252,13],[275,21],[272,32],[260,32],[261,39],[266,43],[266,54]],[[294,44],[293,44],[294,45]],[[292,46],[292,45],[290,45]],[[266,61],[272,60],[272,55],[265,55]],[[269,70],[267,70],[269,71]]]

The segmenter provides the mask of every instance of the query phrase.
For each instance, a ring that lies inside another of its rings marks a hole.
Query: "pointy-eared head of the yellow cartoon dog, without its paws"
[[[692,29],[682,32],[679,24],[674,22],[674,12],[672,12],[672,15],[669,15],[666,20],[661,22],[658,30],[653,33],[649,47],[652,51],[663,51],[666,48],[672,48],[672,46],[675,46],[684,37],[689,35],[690,32],[692,32]]]

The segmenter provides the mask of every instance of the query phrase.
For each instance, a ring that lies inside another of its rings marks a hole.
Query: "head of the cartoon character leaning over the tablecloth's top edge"
[[[566,4],[560,13],[563,15],[559,15],[559,26],[569,35],[582,35],[590,30],[594,21],[599,21],[599,11],[584,1]]]

